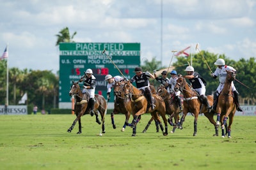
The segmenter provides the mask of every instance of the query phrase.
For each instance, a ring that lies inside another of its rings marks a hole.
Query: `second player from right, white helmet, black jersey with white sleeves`
[[[206,82],[204,80],[204,78],[202,78],[202,76],[200,76],[199,73],[197,73],[194,69],[194,67],[192,66],[188,66],[186,67],[185,71],[187,72],[187,75],[184,76],[184,78],[188,78],[188,80],[191,82],[192,87],[194,90],[196,90],[196,92],[198,92],[202,103],[205,104],[205,106],[207,107],[208,112],[211,112],[211,106],[208,103],[207,97],[205,96],[205,92],[206,92]]]

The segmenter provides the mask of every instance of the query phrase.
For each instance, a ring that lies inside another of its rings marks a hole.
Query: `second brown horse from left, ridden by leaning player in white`
[[[115,105],[114,105],[114,110],[111,113],[111,122],[114,129],[116,129],[114,115],[118,113],[125,114],[125,123],[121,129],[122,132],[125,131],[126,125],[129,125],[129,118],[132,113],[131,100],[125,97],[124,91],[122,90],[123,86],[124,86],[124,81],[122,82],[116,81],[114,84],[113,91],[115,95]]]

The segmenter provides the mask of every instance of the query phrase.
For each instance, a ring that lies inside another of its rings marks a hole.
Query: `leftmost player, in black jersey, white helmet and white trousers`
[[[94,115],[94,103],[95,103],[95,87],[96,87],[96,78],[95,76],[93,76],[93,72],[92,69],[86,69],[86,71],[84,71],[84,75],[81,76],[79,82],[84,81],[84,89],[83,89],[83,93],[88,92],[89,94],[89,103],[88,106],[90,108],[90,115],[93,117]]]

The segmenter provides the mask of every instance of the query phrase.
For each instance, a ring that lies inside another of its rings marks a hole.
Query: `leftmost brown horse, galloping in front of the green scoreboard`
[[[76,119],[74,120],[71,127],[68,129],[68,132],[71,132],[74,129],[74,126],[76,125],[76,122],[78,120],[79,131],[77,132],[77,134],[81,134],[82,133],[81,117],[85,114],[89,114],[90,110],[88,108],[89,94],[87,92],[83,94],[78,83],[79,82],[73,81],[73,84],[71,85],[70,92],[69,92],[69,96],[75,97],[74,111],[76,113]],[[94,112],[95,112],[96,122],[98,124],[101,124],[98,118],[98,114],[100,113],[101,121],[102,121],[102,133],[105,133],[105,125],[104,125],[103,118],[104,118],[104,113],[107,109],[107,102],[103,96],[98,94],[95,94],[95,99],[96,99],[96,102],[94,104]]]

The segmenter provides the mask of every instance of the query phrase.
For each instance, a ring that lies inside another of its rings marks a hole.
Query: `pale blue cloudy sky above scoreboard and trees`
[[[56,34],[68,27],[81,43],[141,43],[141,64],[162,61],[173,50],[256,57],[254,0],[0,0],[0,55],[9,67],[51,70],[59,66]],[[198,43],[198,50],[195,49]],[[174,57],[173,62],[175,62]]]

